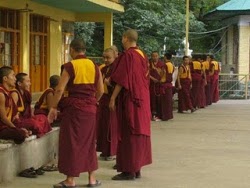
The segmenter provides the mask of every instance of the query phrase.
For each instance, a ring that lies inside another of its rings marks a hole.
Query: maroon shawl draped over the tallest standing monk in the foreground
[[[111,80],[124,88],[120,100],[131,132],[150,136],[148,64],[135,49],[130,48],[119,56]]]

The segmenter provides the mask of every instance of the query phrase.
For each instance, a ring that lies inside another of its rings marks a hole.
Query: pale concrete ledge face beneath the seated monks
[[[12,181],[19,172],[39,168],[58,155],[59,127],[55,127],[41,138],[29,137],[20,144],[0,144],[0,183]]]

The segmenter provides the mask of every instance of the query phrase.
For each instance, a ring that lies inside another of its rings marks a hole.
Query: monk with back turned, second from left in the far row
[[[165,70],[161,79],[162,93],[160,95],[160,112],[161,119],[167,121],[173,119],[173,73],[175,67],[171,62],[172,54],[166,53],[164,55]]]

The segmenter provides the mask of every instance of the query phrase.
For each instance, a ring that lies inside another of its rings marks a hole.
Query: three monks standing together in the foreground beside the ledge
[[[87,187],[100,186],[96,151],[116,158],[116,181],[140,178],[152,163],[148,59],[137,40],[136,30],[125,31],[124,51],[105,49],[100,67],[86,57],[83,40],[71,42],[72,60],[62,65],[48,114],[53,122],[60,108],[58,169],[66,179],[54,187],[76,187],[82,172],[88,172]]]

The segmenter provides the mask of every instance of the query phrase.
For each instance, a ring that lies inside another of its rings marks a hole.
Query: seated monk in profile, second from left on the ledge
[[[31,130],[37,137],[41,137],[51,131],[51,126],[45,115],[33,115],[31,109],[31,93],[29,92],[31,82],[28,74],[18,73],[16,75],[16,89],[11,90],[11,96],[17,105],[19,117],[14,124],[20,128]]]

